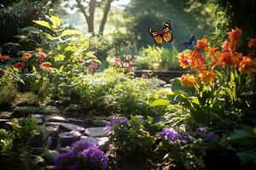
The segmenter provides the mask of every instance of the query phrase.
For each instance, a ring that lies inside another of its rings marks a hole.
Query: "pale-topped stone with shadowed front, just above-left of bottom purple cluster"
[[[80,139],[82,136],[81,133],[78,131],[70,131],[65,133],[59,133],[59,140],[57,144],[57,148],[65,147],[73,144],[73,142],[76,142]]]

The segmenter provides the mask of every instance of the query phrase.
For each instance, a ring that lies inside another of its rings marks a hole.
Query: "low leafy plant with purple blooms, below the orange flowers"
[[[207,132],[206,127],[198,127],[195,132],[178,133],[173,128],[164,128],[159,133],[162,139],[160,150],[166,150],[170,158],[175,158],[179,167],[184,169],[205,168],[204,157],[207,150],[214,147],[218,136]]]

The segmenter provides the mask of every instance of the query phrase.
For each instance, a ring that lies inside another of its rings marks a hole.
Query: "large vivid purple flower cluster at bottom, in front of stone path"
[[[98,166],[102,164],[102,169],[108,167],[108,158],[98,148],[96,144],[91,144],[83,140],[75,142],[70,150],[55,158],[55,166],[57,168],[65,168],[69,170],[77,170],[83,167],[83,164],[90,162],[91,165]]]

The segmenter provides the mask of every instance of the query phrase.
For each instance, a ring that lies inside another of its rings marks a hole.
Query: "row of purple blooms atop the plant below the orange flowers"
[[[205,141],[210,142],[218,139],[218,135],[212,132],[207,132],[207,127],[197,127],[195,133],[193,132],[185,132],[185,133],[177,133],[173,128],[164,128],[159,133],[160,137],[165,138],[170,143],[175,143],[180,141],[183,144],[189,142],[192,136],[197,138],[204,138]]]

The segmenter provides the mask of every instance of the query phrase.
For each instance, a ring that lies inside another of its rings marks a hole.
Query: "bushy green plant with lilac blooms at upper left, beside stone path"
[[[105,130],[118,150],[134,154],[152,149],[154,136],[147,129],[150,123],[144,116],[131,116],[129,121],[126,117],[113,117]]]

